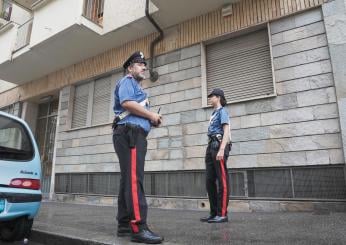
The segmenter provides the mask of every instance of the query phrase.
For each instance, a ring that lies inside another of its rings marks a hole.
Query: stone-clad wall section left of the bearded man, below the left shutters
[[[56,173],[119,172],[109,124],[70,130],[73,89],[60,91]]]

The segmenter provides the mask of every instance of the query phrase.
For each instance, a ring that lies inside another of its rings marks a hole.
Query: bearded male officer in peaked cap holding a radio
[[[116,84],[113,107],[113,145],[121,172],[117,235],[131,235],[134,242],[161,243],[163,238],[146,224],[148,207],[143,190],[146,136],[152,125],[161,124],[161,116],[149,111],[147,94],[140,86],[146,71],[143,53],[132,54],[123,67],[127,74]]]

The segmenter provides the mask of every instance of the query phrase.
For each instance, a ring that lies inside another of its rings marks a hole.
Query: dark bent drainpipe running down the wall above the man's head
[[[150,43],[150,57],[151,57],[151,62],[149,63],[149,74],[150,74],[150,81],[152,82],[156,82],[157,79],[159,78],[159,74],[156,71],[153,71],[153,67],[154,67],[154,48],[155,45],[160,42],[163,39],[163,31],[162,29],[159,27],[159,25],[155,22],[155,20],[153,19],[153,17],[149,14],[149,1],[150,0],[146,0],[145,3],[145,16],[148,18],[148,20],[151,22],[151,24],[153,24],[153,26],[155,27],[155,29],[159,32],[159,36],[157,36],[151,43]]]

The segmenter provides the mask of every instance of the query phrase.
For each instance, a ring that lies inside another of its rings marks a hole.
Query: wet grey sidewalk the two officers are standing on
[[[43,202],[32,240],[47,244],[45,236],[50,236],[69,245],[133,244],[116,237],[115,215],[115,207]],[[148,223],[165,237],[164,244],[346,244],[346,213],[231,213],[224,224],[201,223],[205,215],[150,209]]]

